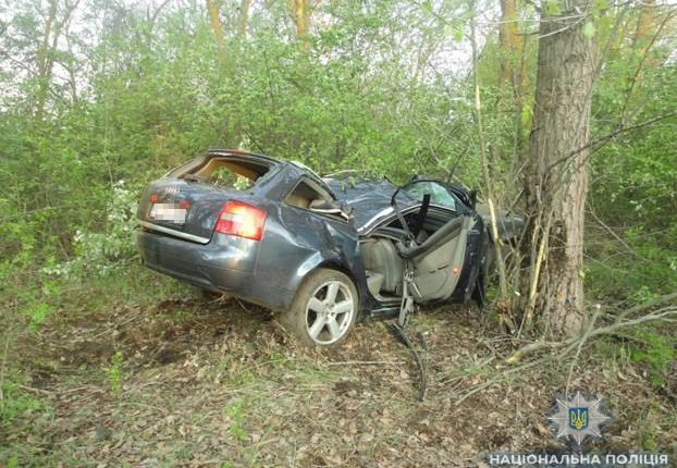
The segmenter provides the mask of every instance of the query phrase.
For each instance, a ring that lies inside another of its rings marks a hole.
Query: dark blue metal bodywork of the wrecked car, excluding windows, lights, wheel
[[[269,163],[270,169],[245,192],[177,178],[182,170],[197,168],[209,157],[250,157]],[[361,222],[288,205],[285,201],[287,196],[304,177],[318,184],[333,200],[347,201],[348,206],[353,202],[365,208],[359,213]],[[137,233],[138,249],[141,259],[151,269],[273,310],[287,309],[296,291],[311,272],[318,268],[335,268],[348,274],[355,283],[360,298],[361,313],[358,318],[392,311],[398,307],[399,300],[391,298],[380,301],[369,293],[367,272],[360,255],[360,239],[396,218],[390,207],[390,197],[396,187],[386,181],[373,185],[373,193],[358,193],[357,198],[350,199],[350,194],[337,193],[335,181],[324,181],[303,165],[262,155],[213,150],[149,185],[137,210],[143,227]],[[188,193],[193,197],[192,210],[196,210],[188,213],[188,219],[194,217],[190,222],[194,223],[195,232],[187,232],[188,227],[172,226],[148,219],[148,199],[151,193],[174,186],[179,187],[180,193]],[[226,200],[250,204],[266,211],[260,241],[213,232],[214,210],[220,210]],[[398,198],[397,204],[405,214],[419,210],[421,206],[404,195],[402,202]],[[446,206],[430,204],[430,207],[455,213]],[[468,210],[468,213],[459,214],[477,215],[471,209]],[[484,226],[485,223],[476,223],[473,229],[477,230],[477,236],[485,237]],[[478,243],[477,248],[466,249],[466,262],[472,255],[485,254],[482,251],[482,248],[485,250],[485,244],[480,244],[479,238],[473,242]],[[472,294],[475,281],[481,273],[479,268],[478,266],[471,271],[464,271],[459,280],[467,279],[468,284],[464,285],[463,294],[458,293],[458,299],[467,300],[467,296]],[[460,286],[460,281],[458,285]]]

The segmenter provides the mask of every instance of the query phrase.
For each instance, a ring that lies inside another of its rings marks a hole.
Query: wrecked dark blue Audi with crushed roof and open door
[[[280,311],[308,346],[418,304],[483,303],[488,223],[472,193],[440,181],[324,180],[211,150],[150,183],[137,217],[147,267]]]

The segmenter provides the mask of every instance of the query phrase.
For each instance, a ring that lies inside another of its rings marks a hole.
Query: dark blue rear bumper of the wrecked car
[[[286,309],[294,299],[295,292],[258,281],[256,241],[229,236],[201,245],[138,231],[136,245],[148,268],[186,283],[273,310]]]

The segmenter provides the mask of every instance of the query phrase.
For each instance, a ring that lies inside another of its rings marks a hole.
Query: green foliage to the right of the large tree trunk
[[[645,48],[623,35],[636,16],[620,26],[604,17],[595,22],[598,40],[608,48],[594,88],[593,135],[638,127],[619,133],[591,158],[589,207],[599,219],[587,218],[586,284],[599,299],[639,304],[677,291],[677,147],[670,143],[677,116],[642,125],[674,112],[677,67],[666,60],[667,42]]]

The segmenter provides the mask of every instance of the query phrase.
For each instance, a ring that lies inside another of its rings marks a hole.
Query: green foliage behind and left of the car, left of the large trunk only
[[[291,28],[279,27],[288,21],[284,5],[268,5],[253,15],[246,40],[229,29],[224,67],[202,4],[168,7],[152,24],[141,8],[83,4],[90,21],[106,17],[96,40],[78,49],[75,60],[91,70],[72,70],[83,86],[51,76],[37,122],[40,86],[7,78],[17,88],[0,107],[0,258],[61,278],[109,274],[134,257],[137,190],[213,146],[393,180],[446,174],[469,152],[455,175],[473,184],[470,108],[448,99],[466,94],[464,79],[411,70],[420,44],[461,39],[444,29],[461,30],[464,19],[447,23],[444,11],[402,7],[317,5],[327,27],[304,51]],[[16,4],[3,38],[16,57],[35,56],[45,14]],[[410,34],[413,21],[420,35]],[[59,66],[73,65],[75,52],[54,53]],[[450,127],[461,128],[458,138],[447,137]]]

